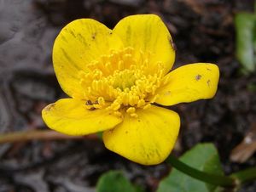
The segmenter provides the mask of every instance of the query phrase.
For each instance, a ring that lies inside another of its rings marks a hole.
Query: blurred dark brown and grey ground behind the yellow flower
[[[253,9],[253,0],[0,0],[0,133],[47,129],[41,110],[67,97],[51,60],[64,25],[92,18],[113,28],[126,15],[151,13],[160,15],[171,31],[175,68],[210,62],[221,72],[214,99],[170,107],[182,121],[173,153],[182,155],[197,143],[211,142],[227,174],[255,167]],[[106,150],[100,139],[0,144],[0,192],[92,192],[110,169],[123,170],[145,191],[155,191],[170,171],[165,163],[143,167],[125,160]],[[256,182],[241,191],[255,192]]]

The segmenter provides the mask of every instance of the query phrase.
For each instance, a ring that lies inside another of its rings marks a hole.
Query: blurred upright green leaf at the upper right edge
[[[236,56],[245,73],[256,70],[256,15],[236,14]]]

